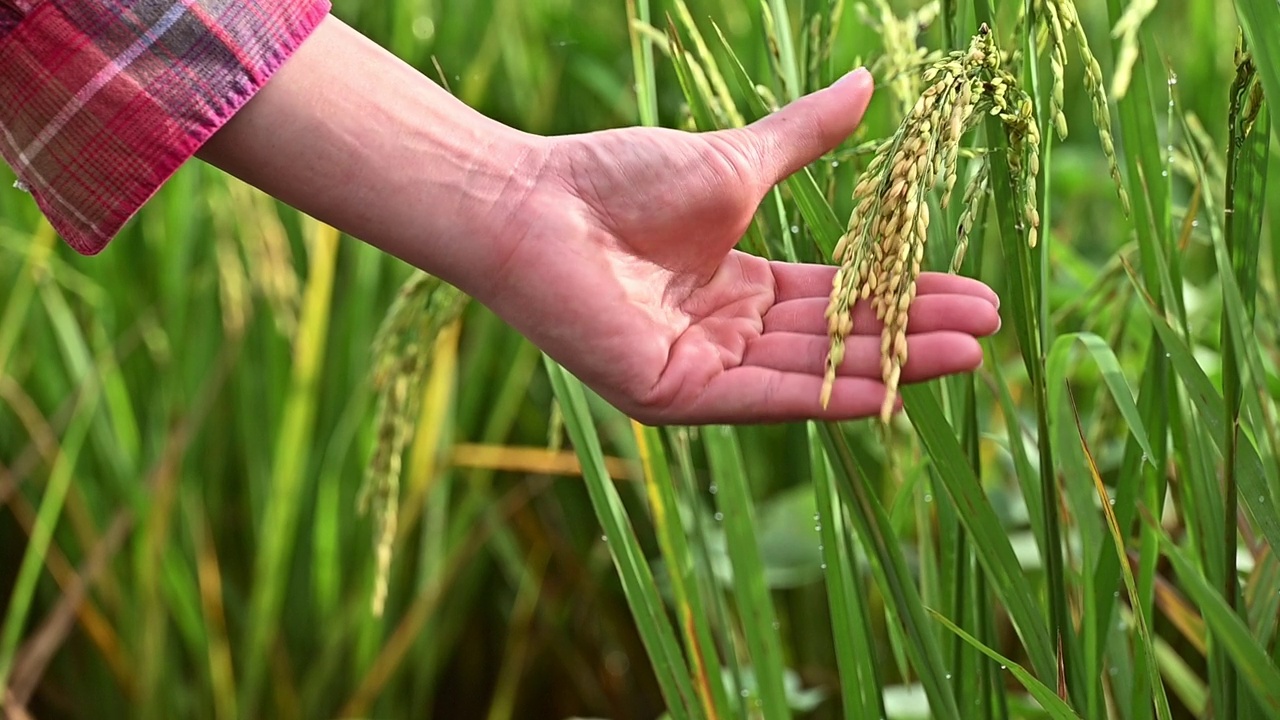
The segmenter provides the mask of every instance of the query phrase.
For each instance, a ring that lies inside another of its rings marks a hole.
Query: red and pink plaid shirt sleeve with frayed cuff
[[[0,155],[101,251],[329,13],[329,0],[0,0]]]

